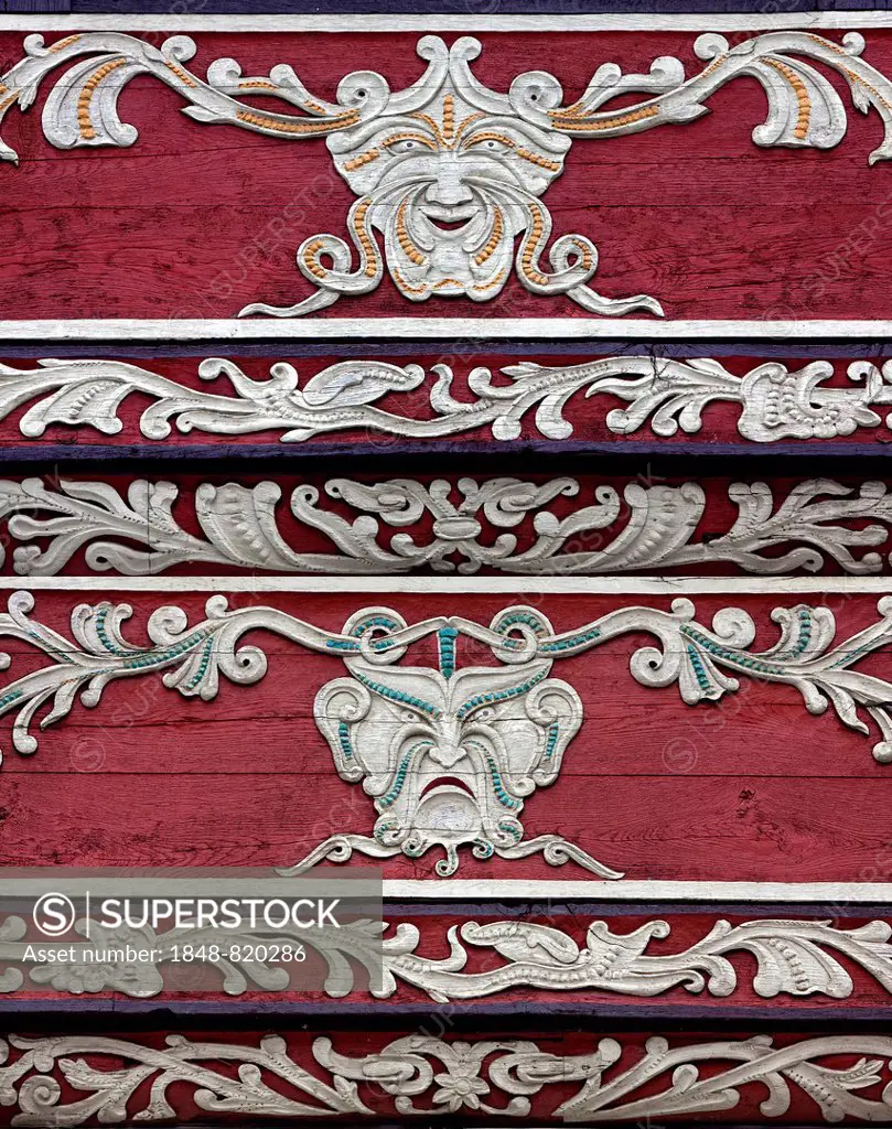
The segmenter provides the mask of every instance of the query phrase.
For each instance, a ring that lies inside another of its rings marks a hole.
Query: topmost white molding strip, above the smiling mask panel
[[[5,32],[769,32],[892,27],[890,11],[709,15],[443,16],[423,15],[53,15],[0,16]]]

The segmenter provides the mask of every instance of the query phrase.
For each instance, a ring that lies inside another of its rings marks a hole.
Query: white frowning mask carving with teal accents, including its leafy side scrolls
[[[776,609],[780,638],[763,651],[749,649],[755,625],[743,610],[722,610],[710,630],[694,621],[689,599],[675,599],[671,612],[621,607],[561,633],[525,606],[505,609],[488,627],[460,615],[408,624],[391,609],[365,607],[332,633],[274,607],[228,611],[226,599],[213,596],[208,619],[194,627],[180,607],[157,609],[148,622],[148,647],[121,633],[132,614],[128,604],[78,605],[71,614],[73,644],[28,619],[33,606],[29,593],[17,592],[0,615],[0,636],[52,660],[0,688],[0,714],[16,714],[12,743],[20,753],[37,747],[29,726],[42,706],[52,702],[41,721],[45,727],[69,714],[78,693],[84,704],[96,706],[116,679],[164,671],[166,686],[205,701],[217,695],[220,675],[242,685],[257,682],[266,672],[265,654],[238,646],[254,629],[343,662],[350,676],[318,691],[316,724],[338,773],[350,784],[362,780],[378,817],[371,835],[334,834],[283,874],[324,859],[347,861],[356,850],[373,858],[418,858],[437,847],[444,857],[436,870],[449,876],[458,848],[470,846],[480,859],[541,851],[556,866],[572,859],[602,877],[622,877],[558,834],[526,840],[519,816],[536,787],[554,782],[583,721],[575,690],[550,677],[554,662],[630,632],[648,632],[661,645],[631,657],[631,673],[642,685],[677,683],[682,700],[694,704],[735,691],[740,675],[788,684],[811,714],[832,707],[843,725],[865,734],[863,715],[869,717],[882,737],[874,756],[892,761],[892,683],[856,669],[892,641],[889,597],[880,601],[876,622],[841,641],[830,609]],[[412,644],[429,636],[438,642],[437,669],[397,665]],[[461,667],[462,638],[491,648],[501,665]]]

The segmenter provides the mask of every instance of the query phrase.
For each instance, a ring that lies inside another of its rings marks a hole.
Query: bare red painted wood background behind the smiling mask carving
[[[833,41],[842,35],[825,34]],[[865,37],[865,59],[892,73],[892,33],[868,29]],[[689,73],[703,65],[692,51],[696,34],[688,33],[480,38],[474,72],[482,81],[505,90],[517,73],[544,69],[559,77],[568,102],[609,60],[624,72],[647,72],[658,55],[676,55]],[[0,36],[0,58],[21,58],[21,40]],[[379,69],[392,89],[422,69],[414,34],[195,40],[190,65],[200,76],[221,56],[237,59],[246,75],[287,62],[327,98],[355,63]],[[21,166],[0,170],[3,317],[234,317],[251,301],[287,306],[312,292],[295,266],[296,248],[321,231],[342,235],[355,199],[324,140],[201,125],[180,113],[175,91],[138,77],[120,102],[122,120],[140,131],[135,145],[62,152],[40,131],[46,88],[26,115],[12,111],[5,123]],[[764,121],[766,104],[749,78],[720,89],[709,100],[711,113],[692,124],[577,139],[563,175],[543,198],[553,234],[579,233],[598,246],[593,286],[600,292],[654,295],[670,318],[884,318],[892,168],[867,167],[880,122],[852,110],[848,91],[840,93],[849,126],[831,151],[758,148],[751,131]],[[321,316],[384,315],[592,316],[567,298],[532,296],[514,279],[484,304],[413,304],[386,275],[377,291],[342,298]]]

